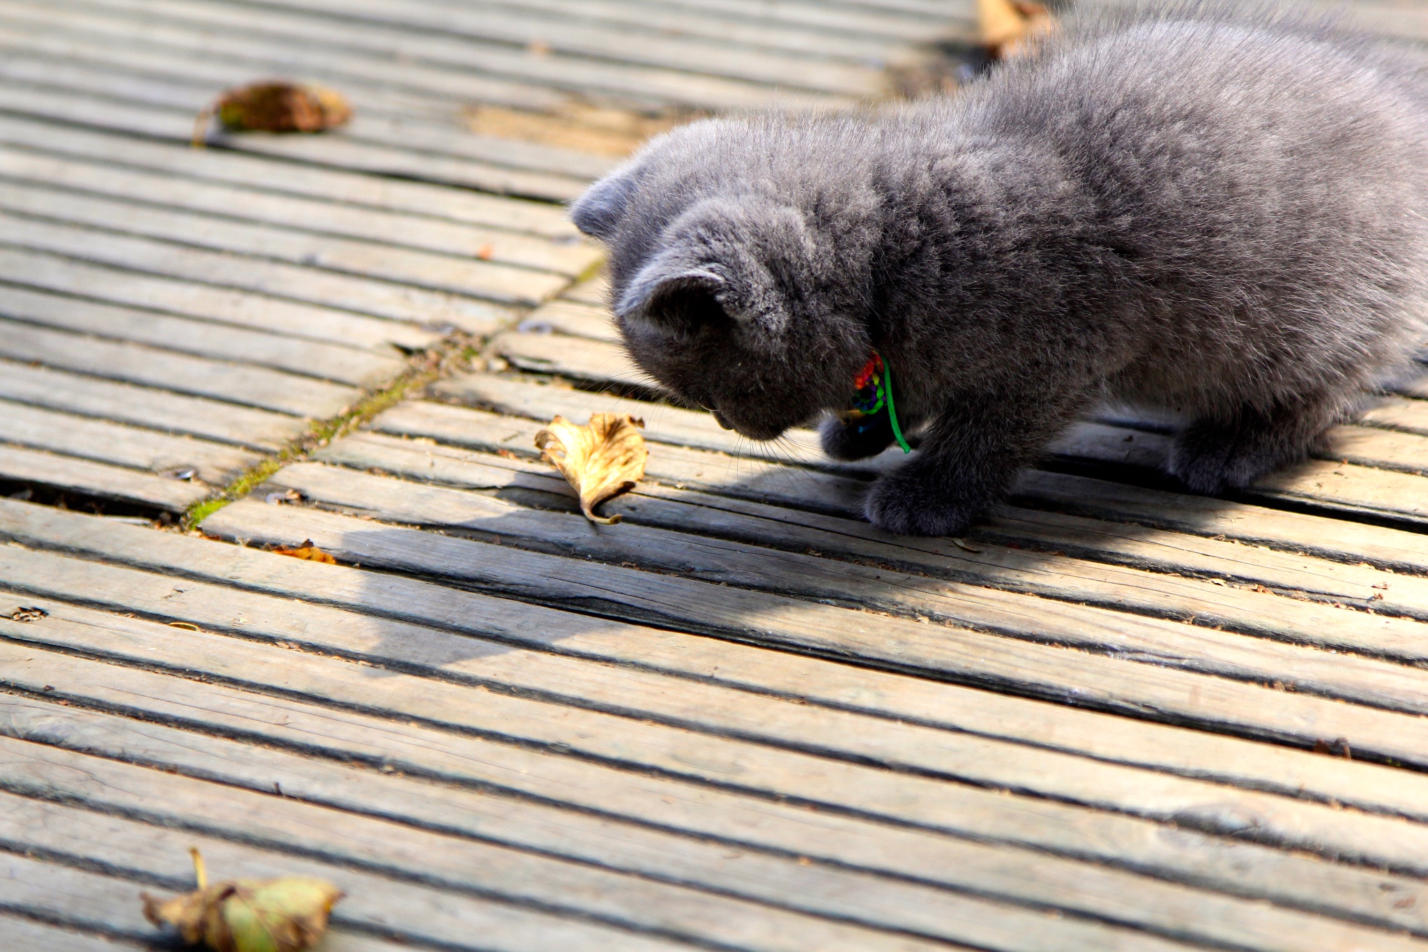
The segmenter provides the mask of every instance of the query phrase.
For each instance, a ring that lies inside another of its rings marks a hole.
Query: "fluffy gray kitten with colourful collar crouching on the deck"
[[[1425,340],[1428,79],[1272,7],[1065,26],[955,97],[701,121],[571,208],[610,248],[634,360],[758,440],[838,414],[877,353],[920,447],[874,525],[958,535],[1078,417],[1190,420],[1171,468],[1245,487]]]

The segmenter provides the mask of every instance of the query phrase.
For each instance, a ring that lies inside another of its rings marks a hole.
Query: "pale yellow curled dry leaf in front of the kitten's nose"
[[[628,414],[593,414],[584,427],[555,417],[536,434],[536,447],[541,460],[560,470],[580,494],[580,511],[585,518],[614,525],[620,517],[595,515],[595,507],[628,492],[644,478],[650,451],[644,448],[643,427],[643,420]]]

